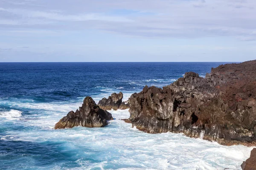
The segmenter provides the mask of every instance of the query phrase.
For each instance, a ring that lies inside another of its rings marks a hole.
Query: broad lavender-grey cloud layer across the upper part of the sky
[[[256,40],[255,0],[4,0],[0,5],[5,28]]]

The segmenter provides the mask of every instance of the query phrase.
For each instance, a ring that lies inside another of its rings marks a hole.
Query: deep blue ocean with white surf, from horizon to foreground
[[[204,77],[220,62],[0,63],[0,169],[2,170],[224,170],[240,169],[250,147],[221,146],[182,134],[148,134],[110,111],[104,128],[54,130],[81,106],[122,91],[128,99],[145,85],[163,87],[187,71]]]

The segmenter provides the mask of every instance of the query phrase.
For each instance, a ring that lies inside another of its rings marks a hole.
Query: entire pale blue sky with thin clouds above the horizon
[[[256,59],[256,0],[0,0],[0,62]]]

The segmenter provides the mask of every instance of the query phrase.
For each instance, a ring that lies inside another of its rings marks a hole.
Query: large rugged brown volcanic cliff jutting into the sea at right
[[[145,86],[129,99],[132,126],[175,132],[223,145],[256,145],[256,60],[188,72],[171,85]]]

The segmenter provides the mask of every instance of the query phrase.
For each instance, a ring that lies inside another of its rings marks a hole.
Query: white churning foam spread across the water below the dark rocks
[[[38,114],[38,119],[24,122],[26,127],[34,127],[31,130],[9,133],[20,141],[62,143],[64,150],[76,153],[73,159],[79,164],[79,167],[69,169],[239,169],[252,150],[252,147],[241,145],[222,146],[216,142],[189,138],[181,133],[144,133],[121,120],[130,116],[128,109],[110,112],[115,119],[104,128],[54,130],[49,125],[54,125],[65,115],[45,112]],[[35,128],[37,126],[39,128]],[[59,166],[61,168],[61,164]]]

